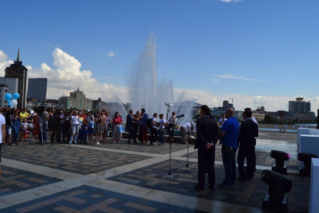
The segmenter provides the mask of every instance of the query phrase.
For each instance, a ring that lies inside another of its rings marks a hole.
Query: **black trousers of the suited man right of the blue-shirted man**
[[[246,175],[244,172],[244,161],[247,160]],[[251,178],[254,175],[256,166],[255,147],[240,147],[237,155],[238,173],[241,177]]]

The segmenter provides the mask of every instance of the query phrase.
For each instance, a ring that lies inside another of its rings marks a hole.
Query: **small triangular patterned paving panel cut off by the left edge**
[[[1,166],[0,196],[41,187],[62,181],[57,178]]]

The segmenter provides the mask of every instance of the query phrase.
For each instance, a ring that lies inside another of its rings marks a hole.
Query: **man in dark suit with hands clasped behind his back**
[[[194,149],[198,148],[198,185],[196,190],[203,190],[205,170],[208,172],[208,183],[211,190],[215,185],[215,145],[219,138],[217,122],[212,120],[207,105],[200,107],[200,118],[196,121],[197,140]]]

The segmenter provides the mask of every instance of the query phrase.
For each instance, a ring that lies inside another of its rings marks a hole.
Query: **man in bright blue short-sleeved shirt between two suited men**
[[[227,120],[221,128],[221,154],[225,169],[225,179],[218,184],[219,187],[229,188],[235,183],[236,178],[236,151],[238,148],[237,139],[239,134],[239,122],[234,117],[234,110],[227,109],[225,112]]]

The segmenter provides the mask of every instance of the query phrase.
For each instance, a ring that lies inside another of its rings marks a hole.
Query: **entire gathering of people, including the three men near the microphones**
[[[222,144],[221,154],[225,170],[225,179],[219,183],[219,187],[229,188],[236,179],[236,151],[238,151],[237,163],[240,181],[250,180],[254,177],[256,170],[255,145],[258,137],[258,122],[252,116],[250,108],[243,112],[245,119],[240,125],[234,117],[233,109],[227,109],[225,114],[217,120],[210,114],[207,105],[201,106],[200,118],[196,121],[196,144],[198,149],[198,184],[196,190],[204,189],[205,173],[208,173],[209,188],[215,185],[215,146],[218,141]],[[174,140],[174,129],[176,128],[175,112],[169,117],[168,122],[163,114],[154,113],[151,118],[145,109],[130,110],[126,117],[126,131],[128,143],[148,143],[148,131],[150,132],[150,145],[157,145],[159,133],[159,145],[164,145],[164,132],[167,138]],[[95,135],[96,145],[106,143],[109,130],[112,130],[113,143],[121,143],[123,130],[123,119],[119,112],[111,118],[107,110],[96,112],[94,115],[90,110],[72,110],[62,112],[59,109],[47,112],[44,107],[37,108],[34,112],[23,108],[22,111],[11,107],[0,109],[0,141],[10,146],[12,143],[18,145],[25,138],[31,141],[38,140],[45,144],[47,139],[50,143],[93,143]],[[179,126],[181,143],[187,144],[190,133],[194,129],[193,122],[184,123]],[[139,134],[138,134],[139,133]],[[62,137],[61,137],[62,136]],[[62,140],[61,140],[62,138]],[[139,142],[138,142],[139,141]],[[0,151],[2,143],[0,143]],[[244,168],[244,159],[247,166]]]

